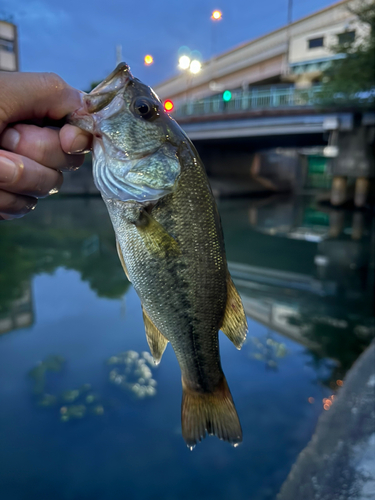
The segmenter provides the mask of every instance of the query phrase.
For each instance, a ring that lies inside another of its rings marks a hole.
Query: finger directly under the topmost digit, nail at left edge
[[[0,147],[58,170],[76,170],[84,160],[80,155],[64,153],[58,130],[36,125],[17,124],[6,128],[0,135]]]

